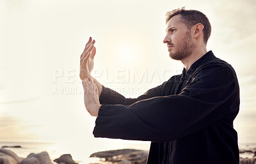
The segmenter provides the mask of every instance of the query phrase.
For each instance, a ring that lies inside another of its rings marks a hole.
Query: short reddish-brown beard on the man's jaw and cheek
[[[177,41],[174,48],[176,48],[176,50],[174,52],[169,53],[169,56],[172,59],[180,61],[192,54],[195,48],[195,44],[192,42],[192,38],[189,32],[186,33],[186,35],[182,39]]]

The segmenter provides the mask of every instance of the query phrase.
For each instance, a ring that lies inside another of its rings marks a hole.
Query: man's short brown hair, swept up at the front
[[[178,8],[166,13],[166,24],[175,15],[180,15],[180,21],[182,21],[188,29],[191,29],[192,26],[195,26],[198,23],[203,24],[204,42],[207,43],[211,35],[211,24],[204,13],[197,10],[185,10],[184,7]]]

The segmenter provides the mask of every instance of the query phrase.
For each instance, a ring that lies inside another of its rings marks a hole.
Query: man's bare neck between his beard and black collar
[[[192,64],[195,63],[195,61],[197,61],[198,59],[200,59],[200,57],[204,56],[206,52],[207,52],[206,47],[197,48],[197,49],[195,48],[195,50],[193,50],[190,56],[186,57],[185,59],[182,59],[181,62],[184,64],[184,68],[186,72],[188,72]]]

